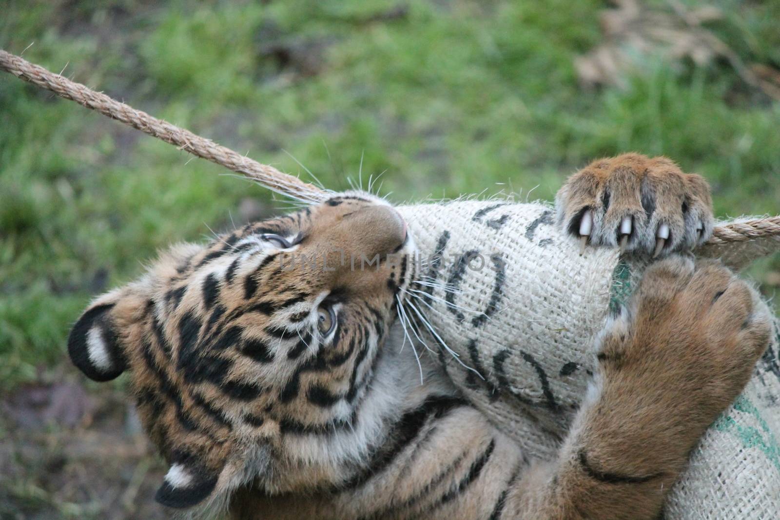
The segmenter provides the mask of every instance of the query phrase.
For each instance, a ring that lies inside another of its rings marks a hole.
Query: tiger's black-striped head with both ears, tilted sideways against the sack
[[[129,372],[170,464],[157,499],[190,507],[267,476],[285,433],[349,426],[413,252],[384,200],[335,195],[173,247],[87,308],[69,355],[94,380]]]

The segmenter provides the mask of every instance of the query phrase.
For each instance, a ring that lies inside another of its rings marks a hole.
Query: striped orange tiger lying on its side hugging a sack
[[[574,239],[658,259],[598,336],[598,370],[549,460],[491,424],[435,353],[403,348],[396,302],[417,248],[392,204],[360,190],[173,246],[90,303],[69,356],[92,380],[129,373],[168,465],[156,500],[185,514],[661,518],[768,346],[770,314],[686,253],[711,235],[711,195],[672,161],[595,161],[556,204]]]

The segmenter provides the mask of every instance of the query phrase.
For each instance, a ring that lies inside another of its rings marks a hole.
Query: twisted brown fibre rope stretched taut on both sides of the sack
[[[64,76],[51,73],[40,65],[30,63],[2,49],[0,49],[0,69],[12,73],[21,80],[29,81],[38,87],[76,101],[76,103],[103,115],[108,115],[111,119],[121,121],[134,129],[164,140],[166,143],[176,145],[180,150],[186,150],[196,157],[246,175],[249,179],[253,179],[282,195],[314,201],[321,200],[325,196],[326,192],[323,189],[303,182],[293,175],[279,172],[267,164],[260,164],[214,141],[197,136],[190,130],[179,128],[179,126],[148,115],[144,111],[136,110],[128,104],[120,103],[112,97],[95,92]],[[714,228],[713,235],[707,245],[719,246],[727,242],[747,242],[766,236],[780,237],[780,216],[719,226]]]

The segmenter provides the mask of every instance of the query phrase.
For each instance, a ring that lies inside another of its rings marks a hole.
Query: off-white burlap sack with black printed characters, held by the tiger
[[[595,370],[594,336],[630,295],[643,262],[615,249],[580,256],[555,226],[553,208],[541,203],[456,201],[401,211],[422,252],[425,285],[412,302],[458,357],[432,340],[429,346],[499,428],[535,455],[551,455]],[[751,257],[751,246],[723,247],[697,254],[723,256],[736,268]],[[704,435],[669,495],[669,520],[780,518],[775,325],[775,343],[750,384]]]

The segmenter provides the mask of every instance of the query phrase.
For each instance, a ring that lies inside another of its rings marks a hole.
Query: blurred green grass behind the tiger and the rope
[[[398,5],[2,0],[0,48],[335,189],[362,161],[392,200],[549,200],[590,159],[636,150],[706,175],[720,216],[780,213],[780,103],[727,64],[648,57],[626,87],[583,90],[573,60],[607,2],[409,0],[377,19]],[[778,0],[715,5],[740,58],[780,65]],[[157,249],[229,228],[246,200],[282,210],[225,172],[0,75],[0,388],[63,363],[90,297]],[[768,293],[778,267],[753,271]]]

